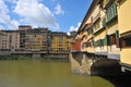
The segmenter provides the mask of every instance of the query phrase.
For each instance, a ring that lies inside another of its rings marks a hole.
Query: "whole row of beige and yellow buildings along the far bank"
[[[9,53],[69,53],[66,33],[48,28],[19,26],[17,30],[0,30],[0,51]]]

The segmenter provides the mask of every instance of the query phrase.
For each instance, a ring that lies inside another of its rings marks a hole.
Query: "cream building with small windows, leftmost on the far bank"
[[[14,52],[20,49],[20,33],[17,30],[2,30],[0,36],[1,51]]]

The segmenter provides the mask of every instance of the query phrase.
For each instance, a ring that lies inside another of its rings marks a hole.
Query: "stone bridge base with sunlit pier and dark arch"
[[[116,75],[120,71],[119,61],[107,55],[75,51],[70,53],[70,62],[72,72],[76,74]]]

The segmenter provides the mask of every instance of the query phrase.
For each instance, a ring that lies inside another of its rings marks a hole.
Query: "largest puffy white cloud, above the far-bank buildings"
[[[21,21],[31,25],[59,28],[53,13],[39,0],[19,0],[14,12],[23,17]]]

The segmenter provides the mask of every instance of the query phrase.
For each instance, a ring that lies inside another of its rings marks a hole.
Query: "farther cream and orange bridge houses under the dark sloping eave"
[[[104,45],[106,36],[105,20],[106,15],[102,10],[99,0],[94,0],[79,28],[79,36],[82,34],[82,51],[107,55],[107,47]]]

